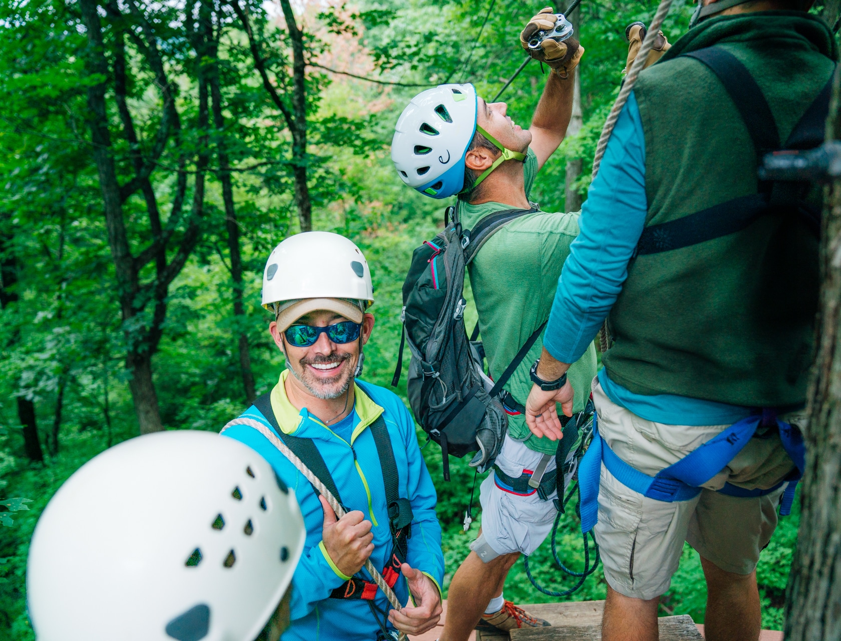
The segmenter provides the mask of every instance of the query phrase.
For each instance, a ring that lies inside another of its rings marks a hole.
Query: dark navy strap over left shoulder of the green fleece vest
[[[717,46],[683,55],[702,62],[716,74],[741,114],[759,158],[780,148],[780,133],[768,101],[748,68],[736,56]]]

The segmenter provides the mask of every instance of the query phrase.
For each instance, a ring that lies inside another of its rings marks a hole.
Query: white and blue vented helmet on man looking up
[[[438,85],[412,98],[391,140],[391,160],[404,183],[436,199],[462,190],[476,103],[476,87],[469,83]]]

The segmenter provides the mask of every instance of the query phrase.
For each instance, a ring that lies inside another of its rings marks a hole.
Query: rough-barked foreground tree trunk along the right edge
[[[827,137],[841,134],[838,74]],[[826,191],[817,358],[807,395],[800,531],[785,599],[787,641],[841,638],[841,179]]]

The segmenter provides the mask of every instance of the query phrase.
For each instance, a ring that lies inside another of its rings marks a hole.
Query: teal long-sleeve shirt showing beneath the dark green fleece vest
[[[637,98],[631,93],[581,208],[580,233],[569,246],[543,335],[543,347],[562,363],[581,358],[616,303],[647,212],[645,136]],[[599,380],[614,403],[649,421],[722,425],[750,414],[750,408],[711,400],[634,394],[612,381],[605,369]]]

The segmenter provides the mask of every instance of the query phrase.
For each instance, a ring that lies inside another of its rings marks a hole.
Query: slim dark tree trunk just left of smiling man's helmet
[[[214,59],[218,55],[214,46]],[[222,201],[225,204],[225,227],[228,234],[228,253],[230,255],[230,278],[234,282],[234,317],[236,320],[237,345],[240,352],[240,373],[242,386],[246,390],[246,405],[251,405],[257,398],[254,374],[251,373],[251,353],[248,350],[248,336],[245,326],[246,311],[242,303],[242,257],[240,252],[240,225],[236,221],[234,207],[234,188],[230,180],[230,160],[225,145],[225,116],[222,114],[222,92],[219,82],[219,66],[214,62],[209,73],[210,103],[213,108],[214,127],[216,129],[216,150],[219,156],[219,179],[222,183]]]

